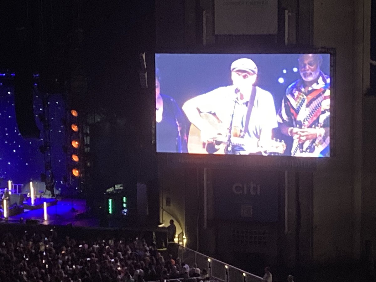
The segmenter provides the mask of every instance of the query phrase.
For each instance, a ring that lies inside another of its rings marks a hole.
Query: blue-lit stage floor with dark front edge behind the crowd
[[[103,226],[98,217],[89,216],[86,212],[86,201],[82,199],[39,199],[47,204],[47,220],[43,219],[43,207],[26,209],[17,215],[12,215],[5,220],[3,209],[0,209],[0,234],[3,232],[44,232],[49,233],[56,229],[61,235],[65,234],[74,238],[147,238],[150,242],[156,236],[158,249],[163,249],[167,242],[167,229],[160,228],[157,224],[142,220],[132,225],[124,225],[119,220],[108,220]],[[41,204],[39,202],[39,205]],[[53,204],[53,205],[52,205]],[[43,206],[41,204],[40,206]],[[22,209],[22,207],[21,207]]]

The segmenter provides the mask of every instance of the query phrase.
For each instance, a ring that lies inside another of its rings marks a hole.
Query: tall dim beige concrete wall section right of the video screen
[[[364,8],[369,5],[368,0],[314,1],[313,43],[337,51],[335,157],[314,177],[317,262],[360,256],[362,98],[370,55],[370,9]]]

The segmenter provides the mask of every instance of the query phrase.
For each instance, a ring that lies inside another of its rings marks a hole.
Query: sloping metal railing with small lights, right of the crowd
[[[260,282],[262,277],[243,271],[237,267],[225,264],[217,259],[203,255],[202,253],[194,250],[179,246],[178,256],[180,261],[193,266],[197,264],[197,267],[203,270],[208,270],[209,277],[214,280],[224,282]]]

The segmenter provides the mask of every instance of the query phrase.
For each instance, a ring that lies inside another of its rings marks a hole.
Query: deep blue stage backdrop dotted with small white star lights
[[[61,118],[65,116],[65,107],[61,96],[53,95],[50,101],[52,102],[49,102],[52,167],[55,179],[60,180],[66,170],[66,158],[62,152],[65,131],[62,129],[64,126],[61,125]],[[34,104],[34,114],[41,114],[43,107],[38,95],[34,96]],[[43,136],[41,122],[38,118],[35,121],[41,130],[40,136]],[[30,179],[40,180],[41,173],[44,173],[44,157],[39,152],[42,140],[42,138],[24,139],[21,136],[15,117],[14,91],[0,83],[0,188],[4,188],[9,179],[20,184],[28,183]],[[60,182],[58,185],[61,185]]]

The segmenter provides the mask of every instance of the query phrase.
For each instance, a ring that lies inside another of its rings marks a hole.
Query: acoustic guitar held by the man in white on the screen
[[[214,114],[201,113],[201,118],[206,120],[217,132],[217,136],[213,136],[209,142],[203,141],[201,131],[191,124],[188,135],[188,153],[190,154],[215,154],[224,155],[227,143],[228,128],[224,126],[221,120]],[[231,143],[232,146],[247,147],[246,141],[241,136],[241,129],[238,126],[232,127]],[[252,151],[243,151],[241,155],[250,155],[255,153],[263,153],[267,155],[282,155],[286,150],[286,144],[279,140],[258,141],[256,148]]]

